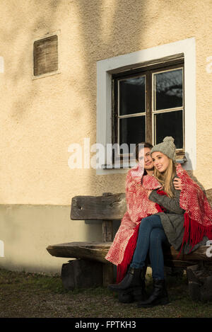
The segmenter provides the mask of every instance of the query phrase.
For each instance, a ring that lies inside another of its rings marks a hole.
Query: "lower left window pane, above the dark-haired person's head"
[[[119,144],[144,142],[146,137],[145,116],[119,119]]]

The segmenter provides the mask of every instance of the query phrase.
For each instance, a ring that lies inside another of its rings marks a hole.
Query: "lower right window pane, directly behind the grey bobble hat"
[[[177,149],[183,148],[182,110],[155,114],[155,144],[163,142],[164,137],[172,136]]]

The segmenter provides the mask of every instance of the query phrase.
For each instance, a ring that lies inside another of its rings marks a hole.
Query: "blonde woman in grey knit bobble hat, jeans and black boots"
[[[148,190],[148,198],[160,206],[161,210],[141,220],[129,272],[122,282],[109,286],[110,290],[114,291],[127,290],[136,285],[139,287],[139,278],[136,275],[139,273],[142,275],[149,251],[153,269],[153,293],[147,300],[141,300],[138,307],[150,307],[168,302],[163,250],[157,253],[151,248],[153,231],[163,234],[164,241],[168,240],[169,244],[183,253],[195,250],[198,246],[206,244],[208,238],[212,238],[211,207],[201,188],[189,178],[180,164],[175,164],[174,139],[165,137],[163,143],[151,149],[151,156],[155,166],[155,179],[160,182],[163,190]],[[182,190],[175,189],[176,176],[181,179]]]

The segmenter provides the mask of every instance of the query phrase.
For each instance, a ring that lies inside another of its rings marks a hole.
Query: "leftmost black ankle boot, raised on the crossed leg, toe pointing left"
[[[124,279],[119,284],[108,285],[109,290],[120,292],[124,290],[132,290],[134,287],[145,287],[144,268],[129,268]]]

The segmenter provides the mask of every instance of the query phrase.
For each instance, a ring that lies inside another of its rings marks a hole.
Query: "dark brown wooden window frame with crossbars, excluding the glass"
[[[112,144],[119,142],[118,139],[118,81],[136,75],[146,75],[146,142],[153,142],[153,73],[158,71],[166,71],[169,69],[183,68],[184,71],[184,55],[176,55],[163,59],[155,60],[155,62],[141,64],[136,68],[122,68],[119,71],[112,73]],[[184,86],[184,75],[183,75]],[[183,89],[184,92],[184,89]],[[184,95],[183,95],[183,118],[184,118]],[[184,119],[183,119],[183,135],[184,133]],[[184,141],[184,140],[183,140]],[[183,142],[184,144],[184,142]],[[183,149],[177,149],[177,159],[184,159]],[[121,167],[126,161],[129,164],[129,155],[120,154],[117,156],[121,162]],[[115,154],[113,153],[113,164],[116,161]]]

